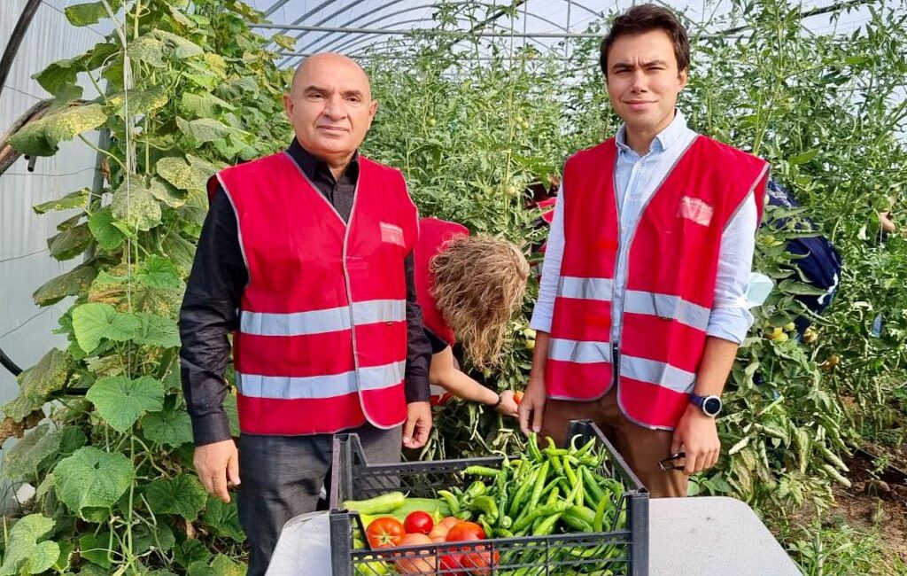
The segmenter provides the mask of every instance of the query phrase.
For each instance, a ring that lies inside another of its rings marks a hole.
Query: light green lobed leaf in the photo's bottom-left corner
[[[40,574],[50,570],[60,557],[60,546],[56,542],[40,541],[53,529],[54,521],[42,514],[29,514],[15,522],[6,542],[0,576]]]

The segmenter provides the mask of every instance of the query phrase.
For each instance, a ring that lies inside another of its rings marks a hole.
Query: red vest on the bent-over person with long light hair
[[[441,338],[450,346],[456,342],[456,336],[453,329],[447,326],[444,316],[434,302],[432,296],[434,277],[429,267],[432,259],[442,252],[448,242],[462,236],[469,236],[469,229],[462,224],[424,218],[419,220],[419,240],[415,243],[414,249],[415,294],[422,308],[424,325],[434,333],[434,336]],[[433,405],[444,405],[453,397],[442,386],[430,387]]]

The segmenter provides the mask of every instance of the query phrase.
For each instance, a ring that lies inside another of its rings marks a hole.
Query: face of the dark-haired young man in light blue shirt
[[[611,44],[607,84],[614,112],[629,130],[658,133],[674,117],[687,71],[678,72],[668,33],[652,30],[619,36]]]

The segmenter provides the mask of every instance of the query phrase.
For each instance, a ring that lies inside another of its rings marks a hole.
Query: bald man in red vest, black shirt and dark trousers
[[[358,153],[375,117],[340,54],[297,69],[287,151],[220,171],[180,309],[194,462],[249,537],[263,574],[285,522],[316,509],[333,434],[396,462],[431,428],[431,345],[416,304],[417,213],[403,175]],[[222,408],[233,333],[239,452]],[[241,480],[241,482],[240,482]]]

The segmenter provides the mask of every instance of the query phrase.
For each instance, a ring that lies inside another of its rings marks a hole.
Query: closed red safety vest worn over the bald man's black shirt
[[[348,225],[287,153],[220,171],[217,180],[249,269],[233,340],[240,429],[400,425],[404,259],[418,230],[403,175],[360,156]]]

